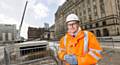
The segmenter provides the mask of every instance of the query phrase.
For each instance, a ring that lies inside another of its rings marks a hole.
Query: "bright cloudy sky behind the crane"
[[[55,12],[66,0],[28,0],[21,28],[21,36],[27,39],[28,27],[44,27],[55,22]],[[16,24],[19,28],[26,0],[0,0],[0,24]]]

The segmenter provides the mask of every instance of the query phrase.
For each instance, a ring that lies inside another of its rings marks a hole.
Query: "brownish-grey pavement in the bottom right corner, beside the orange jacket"
[[[120,52],[108,49],[105,49],[105,52],[99,65],[120,65]]]

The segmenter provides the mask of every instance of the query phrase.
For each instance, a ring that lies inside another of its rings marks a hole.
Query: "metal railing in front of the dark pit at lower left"
[[[41,47],[19,47],[6,46],[4,48],[4,59],[0,65],[57,65],[53,58],[53,51]]]

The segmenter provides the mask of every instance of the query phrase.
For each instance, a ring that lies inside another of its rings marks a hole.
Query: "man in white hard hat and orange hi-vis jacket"
[[[68,31],[60,40],[59,59],[66,65],[96,65],[102,58],[102,48],[95,35],[79,27],[79,18],[70,14],[66,18]]]

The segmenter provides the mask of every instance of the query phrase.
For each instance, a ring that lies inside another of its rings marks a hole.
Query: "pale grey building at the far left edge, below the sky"
[[[12,42],[17,39],[16,25],[0,24],[0,43]]]

